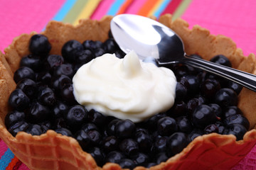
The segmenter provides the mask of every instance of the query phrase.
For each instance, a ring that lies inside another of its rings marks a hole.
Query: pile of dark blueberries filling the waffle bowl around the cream
[[[240,85],[185,64],[169,68],[178,83],[174,106],[165,113],[133,123],[87,111],[75,101],[72,78],[82,64],[106,52],[124,57],[111,36],[105,42],[69,40],[62,55],[49,55],[48,38],[38,34],[32,36],[29,50],[14,73],[17,86],[9,96],[12,111],[6,115],[6,128],[14,136],[19,131],[41,135],[55,130],[74,137],[99,166],[154,166],[181,152],[195,137],[215,132],[242,140],[250,127],[237,107]],[[223,55],[210,61],[231,67]]]

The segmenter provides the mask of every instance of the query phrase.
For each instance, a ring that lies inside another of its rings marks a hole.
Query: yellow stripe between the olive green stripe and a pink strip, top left
[[[95,8],[97,8],[97,5],[100,4],[101,0],[90,0],[85,4],[85,6],[82,8],[82,11],[78,15],[78,18],[75,19],[73,25],[77,25],[79,23],[80,19],[84,18],[90,18],[93,11],[95,11]]]

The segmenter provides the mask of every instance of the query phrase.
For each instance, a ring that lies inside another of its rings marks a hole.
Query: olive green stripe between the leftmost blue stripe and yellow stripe
[[[79,14],[84,8],[85,4],[87,4],[88,0],[78,0],[75,2],[75,5],[70,9],[68,14],[63,18],[63,23],[73,23],[76,18],[78,18]]]

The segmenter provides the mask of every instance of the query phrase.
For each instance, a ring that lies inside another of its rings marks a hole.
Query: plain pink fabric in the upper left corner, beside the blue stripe
[[[41,32],[64,1],[0,0],[0,50],[4,52],[21,33]]]

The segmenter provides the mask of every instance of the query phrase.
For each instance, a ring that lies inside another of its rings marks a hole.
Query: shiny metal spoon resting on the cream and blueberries
[[[121,50],[125,53],[134,50],[141,60],[154,57],[159,66],[177,62],[189,64],[256,91],[256,75],[186,55],[181,38],[157,21],[121,14],[112,18],[110,28]]]

